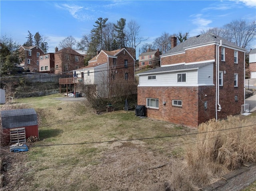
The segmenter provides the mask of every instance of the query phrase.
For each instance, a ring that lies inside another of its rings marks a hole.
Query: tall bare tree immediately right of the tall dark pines
[[[147,39],[144,37],[139,37],[140,26],[136,23],[136,21],[131,20],[127,24],[126,30],[126,47],[134,48],[134,54],[132,55],[134,58],[136,57],[136,47],[142,42]]]

